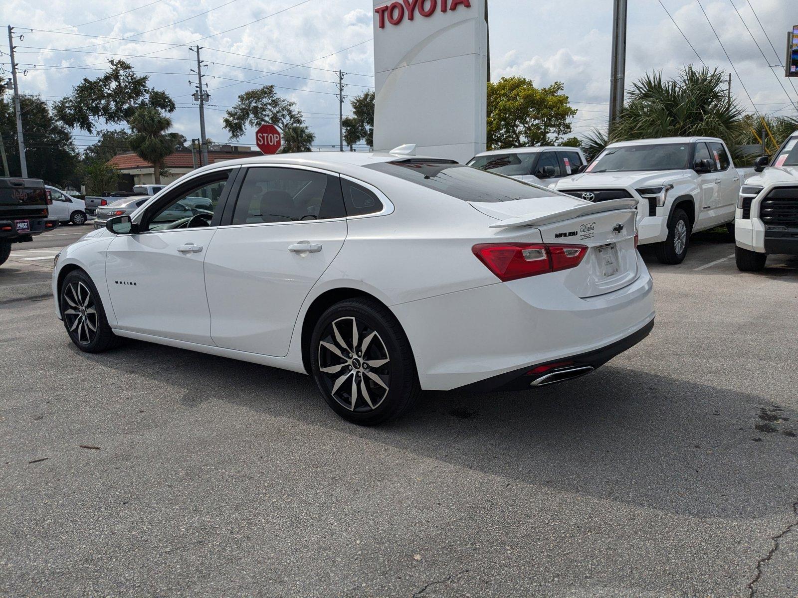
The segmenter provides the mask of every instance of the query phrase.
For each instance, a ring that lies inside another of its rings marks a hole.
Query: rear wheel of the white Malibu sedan
[[[322,314],[310,340],[310,370],[333,411],[362,426],[398,417],[421,391],[404,330],[368,298],[340,301]]]

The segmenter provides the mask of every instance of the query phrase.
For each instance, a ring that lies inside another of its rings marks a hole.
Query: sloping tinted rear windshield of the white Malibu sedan
[[[508,179],[490,171],[480,171],[464,164],[412,160],[369,164],[366,168],[397,176],[465,202],[512,202],[516,199],[555,195],[544,187]]]

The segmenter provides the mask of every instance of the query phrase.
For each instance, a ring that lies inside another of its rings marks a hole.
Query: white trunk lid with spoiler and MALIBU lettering
[[[471,205],[496,218],[491,228],[528,226],[538,230],[547,244],[587,246],[579,266],[562,273],[567,288],[587,298],[622,289],[638,278],[635,203],[634,199],[613,199],[596,204],[557,195]]]

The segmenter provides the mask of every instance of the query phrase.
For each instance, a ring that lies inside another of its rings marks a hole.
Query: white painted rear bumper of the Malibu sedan
[[[599,351],[654,320],[653,281],[638,278],[582,299],[568,271],[392,305],[416,359],[421,388],[452,390],[537,364]]]

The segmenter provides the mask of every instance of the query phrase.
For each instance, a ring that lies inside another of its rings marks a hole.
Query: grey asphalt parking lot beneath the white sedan
[[[306,376],[83,354],[0,286],[0,595],[798,596],[798,259],[693,243],[643,248],[657,325],[604,368],[377,428]]]

